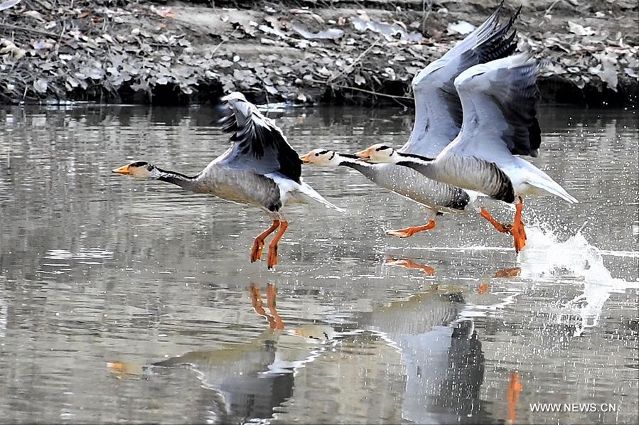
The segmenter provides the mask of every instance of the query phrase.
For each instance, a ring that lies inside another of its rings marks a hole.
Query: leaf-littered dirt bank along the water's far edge
[[[636,104],[634,0],[522,0],[549,102]],[[412,76],[497,2],[0,0],[1,102],[411,102]],[[520,1],[506,1],[503,20]]]

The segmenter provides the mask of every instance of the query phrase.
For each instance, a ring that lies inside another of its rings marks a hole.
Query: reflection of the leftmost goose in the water
[[[118,379],[152,379],[164,368],[188,367],[212,391],[210,405],[205,406],[211,420],[243,423],[271,418],[274,409],[293,394],[294,370],[315,360],[322,340],[333,338],[335,330],[320,324],[285,331],[276,310],[276,287],[267,285],[268,313],[259,286],[251,284],[249,294],[255,313],[269,324],[257,338],[149,365],[110,362],[109,368]]]

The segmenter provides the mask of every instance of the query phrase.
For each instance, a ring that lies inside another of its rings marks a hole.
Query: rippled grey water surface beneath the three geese
[[[399,146],[412,122],[271,115],[300,153]],[[287,208],[275,271],[248,261],[259,210],[110,173],[141,159],[197,173],[227,146],[212,110],[0,119],[0,421],[638,420],[635,112],[542,110],[534,161],[581,203],[527,200],[519,257],[476,214],[386,237],[422,224],[419,205],[305,167],[348,212]],[[532,411],[544,402],[598,411]]]

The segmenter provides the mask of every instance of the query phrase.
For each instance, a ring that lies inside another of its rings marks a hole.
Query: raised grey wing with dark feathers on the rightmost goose
[[[542,141],[535,107],[537,69],[534,60],[520,53],[462,72],[455,87],[463,126],[450,151],[488,161],[537,156]]]

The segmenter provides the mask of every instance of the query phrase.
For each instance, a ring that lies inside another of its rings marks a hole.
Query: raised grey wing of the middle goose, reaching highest
[[[414,77],[415,124],[402,151],[436,156],[457,136],[463,114],[454,80],[473,65],[503,58],[515,51],[516,31],[510,33],[510,30],[520,10],[508,23],[498,27],[500,5],[475,31]]]

